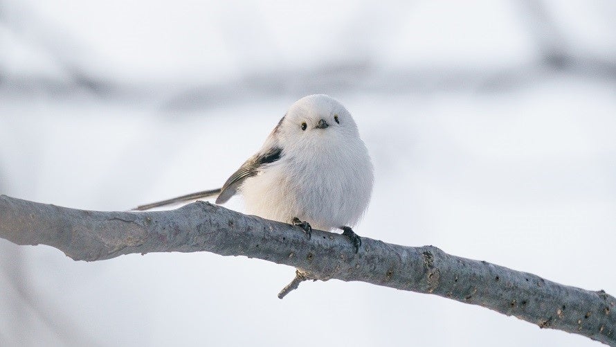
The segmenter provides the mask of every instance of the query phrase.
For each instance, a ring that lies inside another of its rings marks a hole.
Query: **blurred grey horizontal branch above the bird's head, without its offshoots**
[[[561,61],[561,60],[559,60]],[[600,60],[568,60],[559,68],[579,78],[609,82],[616,87],[616,65]],[[223,105],[238,105],[255,99],[281,94],[306,95],[314,91],[324,93],[379,92],[386,94],[432,93],[435,91],[492,92],[525,88],[552,75],[554,66],[520,66],[511,69],[482,71],[474,69],[422,69],[413,71],[377,71],[369,62],[325,65],[316,69],[271,71],[246,75],[241,80],[224,84],[186,85],[181,90],[167,87],[167,83],[122,84],[106,82],[105,91],[96,88],[96,96],[120,103],[158,104],[161,109],[210,109]],[[88,79],[84,79],[88,80]],[[183,85],[181,81],[168,82]],[[190,83],[189,83],[190,84]],[[5,80],[0,93],[24,97],[29,94],[53,94],[58,100],[71,99],[75,94],[94,90],[93,84],[17,78]],[[96,85],[100,86],[103,84]]]

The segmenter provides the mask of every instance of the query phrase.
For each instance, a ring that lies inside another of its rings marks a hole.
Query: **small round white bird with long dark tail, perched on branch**
[[[354,247],[353,227],[368,208],[374,168],[350,112],[336,99],[314,94],[297,100],[222,188],[138,206],[157,206],[217,195],[224,204],[242,195],[246,213],[312,229],[341,229]]]

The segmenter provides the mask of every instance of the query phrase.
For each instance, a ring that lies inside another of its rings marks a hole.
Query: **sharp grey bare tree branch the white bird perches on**
[[[362,238],[355,254],[347,238],[243,215],[207,202],[172,211],[99,212],[0,196],[0,237],[48,244],[74,260],[129,253],[209,251],[298,268],[284,296],[305,279],[363,281],[436,294],[616,346],[614,296],[560,285],[534,274],[451,256],[433,246],[404,247]]]

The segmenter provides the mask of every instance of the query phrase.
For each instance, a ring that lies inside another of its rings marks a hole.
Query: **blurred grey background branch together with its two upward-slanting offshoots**
[[[24,98],[44,94],[64,99],[87,93],[125,103],[185,110],[237,105],[281,94],[305,95],[314,91],[336,94],[362,91],[387,94],[502,91],[527,87],[554,74],[600,80],[616,86],[616,61],[604,56],[572,53],[567,37],[561,33],[543,1],[520,0],[514,3],[518,4],[520,18],[540,53],[540,59],[534,64],[509,68],[408,66],[388,69],[369,55],[357,55],[343,62],[324,60],[311,67],[280,66],[269,71],[242,69],[244,72],[239,78],[199,83],[181,79],[156,81],[155,76],[148,81],[127,81],[118,78],[118,75],[98,75],[89,69],[87,63],[96,61],[108,66],[109,62],[83,48],[70,35],[57,33],[53,26],[46,24],[26,5],[12,1],[8,6],[8,2],[4,1],[0,3],[0,26],[51,57],[68,78],[10,75],[0,70],[0,94]],[[37,25],[32,25],[33,22]],[[363,26],[354,28],[360,30]]]

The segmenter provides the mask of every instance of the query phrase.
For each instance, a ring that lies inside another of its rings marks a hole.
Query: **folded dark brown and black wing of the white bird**
[[[227,179],[224,186],[222,186],[221,192],[216,198],[217,204],[224,204],[233,195],[237,193],[237,188],[244,183],[248,177],[257,175],[260,168],[264,165],[278,161],[282,156],[282,148],[273,147],[261,153],[253,155],[250,159],[245,161],[242,166],[233,172],[233,175]]]

